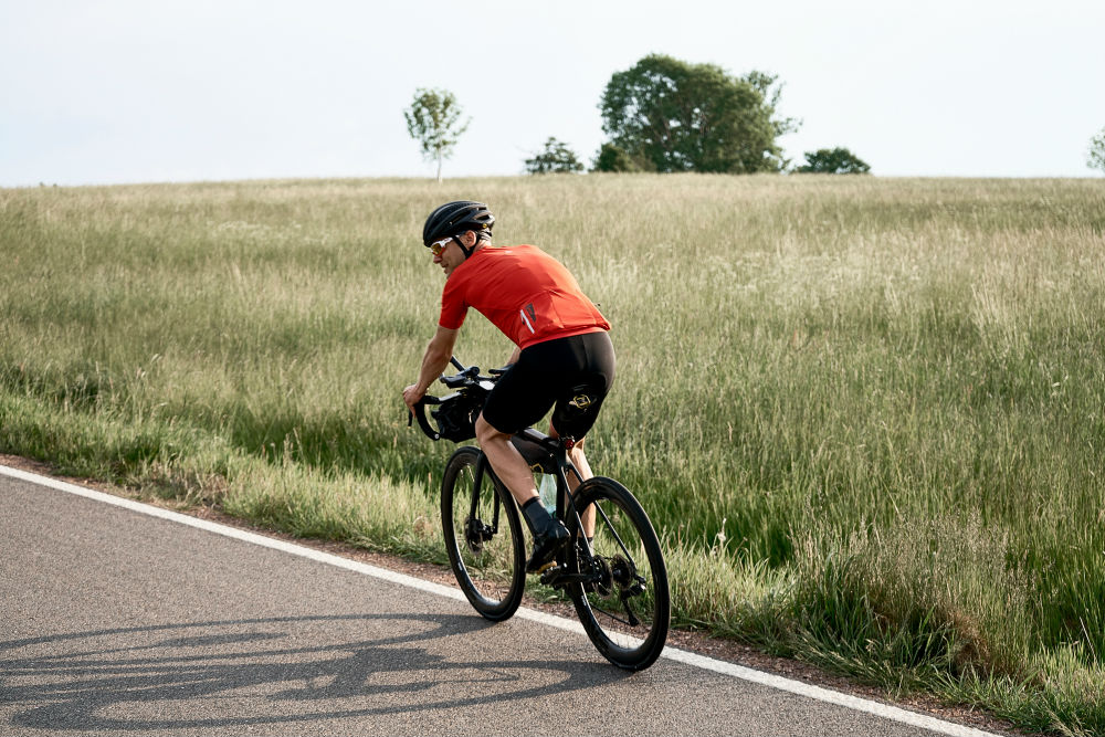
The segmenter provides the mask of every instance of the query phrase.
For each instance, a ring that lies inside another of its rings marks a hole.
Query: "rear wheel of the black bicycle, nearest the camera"
[[[569,569],[600,571],[602,580],[572,583],[568,594],[596,649],[618,667],[642,671],[660,657],[671,623],[660,539],[633,494],[611,478],[589,478],[580,484],[575,499],[580,513],[592,504],[598,507],[594,557],[581,551],[579,519],[571,515]]]

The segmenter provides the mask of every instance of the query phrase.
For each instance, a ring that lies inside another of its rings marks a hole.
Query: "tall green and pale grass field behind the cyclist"
[[[589,455],[674,615],[1105,734],[1105,182],[579,176],[0,190],[0,451],[443,560],[400,391],[451,199],[614,326]],[[511,346],[477,315],[459,357]]]

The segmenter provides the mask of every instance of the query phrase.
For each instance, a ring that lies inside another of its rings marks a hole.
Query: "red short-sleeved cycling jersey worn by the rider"
[[[454,269],[441,293],[439,325],[460,328],[469,307],[519,348],[610,329],[571,273],[534,245],[485,245]]]

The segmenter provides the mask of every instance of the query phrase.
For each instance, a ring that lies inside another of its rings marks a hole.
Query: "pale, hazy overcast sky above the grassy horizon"
[[[882,176],[1085,177],[1102,0],[0,0],[0,187],[431,177],[402,110],[452,91],[444,175],[590,162],[614,72],[650,53],[785,83],[786,155]]]

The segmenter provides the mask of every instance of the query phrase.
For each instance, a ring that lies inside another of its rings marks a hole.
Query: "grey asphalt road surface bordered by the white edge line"
[[[936,729],[0,475],[0,735]]]

